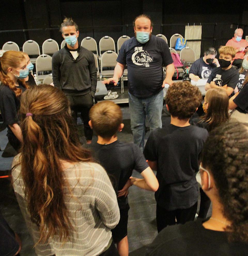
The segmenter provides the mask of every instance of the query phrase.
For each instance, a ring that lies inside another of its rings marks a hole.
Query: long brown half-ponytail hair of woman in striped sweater
[[[22,94],[19,115],[21,177],[31,220],[40,227],[38,243],[54,235],[65,242],[72,223],[64,201],[68,182],[60,160],[91,161],[90,151],[80,145],[69,102],[59,89],[50,85],[28,89]]]

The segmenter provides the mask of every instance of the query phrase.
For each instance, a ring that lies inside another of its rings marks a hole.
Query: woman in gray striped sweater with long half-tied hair
[[[81,147],[64,93],[30,88],[19,115],[23,143],[13,187],[37,255],[119,255],[110,231],[120,218],[116,194]]]

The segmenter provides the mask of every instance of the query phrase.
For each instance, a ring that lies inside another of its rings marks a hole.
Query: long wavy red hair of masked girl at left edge
[[[20,51],[6,51],[0,58],[0,80],[15,93],[16,97],[21,95],[21,89],[15,86],[14,81],[7,76],[7,73],[9,67],[17,68],[22,61],[25,61],[25,57]],[[24,79],[18,79],[18,82],[23,87],[28,88]]]

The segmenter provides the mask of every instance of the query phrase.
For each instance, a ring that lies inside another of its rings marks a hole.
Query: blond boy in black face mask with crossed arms
[[[238,71],[232,67],[236,50],[231,46],[221,46],[219,54],[220,67],[213,69],[205,85],[205,90],[221,88],[230,96],[237,85],[239,77]]]

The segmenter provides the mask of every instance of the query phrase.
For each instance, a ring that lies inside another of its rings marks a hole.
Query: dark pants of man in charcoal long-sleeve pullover
[[[89,126],[89,111],[93,106],[93,97],[91,93],[87,93],[79,96],[66,95],[70,102],[71,110],[73,111],[72,116],[77,123],[77,113],[81,113],[81,118],[84,126],[84,136],[86,140],[92,140],[93,131]]]

